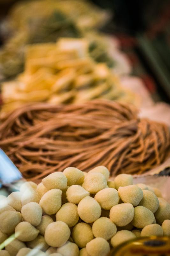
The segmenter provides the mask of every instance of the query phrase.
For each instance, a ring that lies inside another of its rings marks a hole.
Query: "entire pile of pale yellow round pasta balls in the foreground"
[[[109,180],[104,166],[68,167],[0,196],[0,256],[106,256],[151,235],[170,236],[170,204],[129,174]]]

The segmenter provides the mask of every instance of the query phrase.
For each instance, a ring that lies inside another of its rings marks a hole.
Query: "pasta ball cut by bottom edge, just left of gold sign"
[[[104,238],[97,237],[87,243],[86,250],[89,256],[106,256],[110,251],[110,246]]]

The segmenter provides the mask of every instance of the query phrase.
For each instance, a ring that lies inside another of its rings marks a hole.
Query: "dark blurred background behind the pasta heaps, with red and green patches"
[[[1,45],[8,36],[2,24],[16,2],[0,0]],[[130,75],[142,79],[154,101],[170,102],[170,1],[92,2],[111,14],[108,22],[100,26],[100,31],[119,40],[121,50],[130,61]]]

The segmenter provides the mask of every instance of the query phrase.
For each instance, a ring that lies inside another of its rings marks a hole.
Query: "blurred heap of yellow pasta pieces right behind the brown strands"
[[[95,98],[137,104],[104,63],[88,54],[88,40],[61,38],[56,44],[33,44],[26,52],[25,72],[2,86],[1,113],[27,102],[78,103]]]

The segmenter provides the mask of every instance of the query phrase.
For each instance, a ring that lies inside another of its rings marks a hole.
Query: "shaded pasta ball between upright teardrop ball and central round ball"
[[[63,204],[56,213],[56,220],[65,222],[69,227],[73,227],[79,220],[77,205],[73,203]]]

